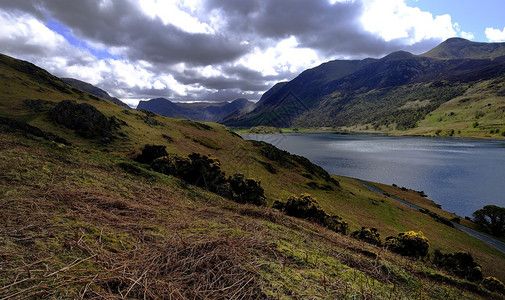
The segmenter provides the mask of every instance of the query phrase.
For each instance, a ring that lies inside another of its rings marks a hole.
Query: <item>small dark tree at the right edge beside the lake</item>
[[[505,208],[486,205],[473,213],[473,221],[484,231],[496,237],[505,236]]]

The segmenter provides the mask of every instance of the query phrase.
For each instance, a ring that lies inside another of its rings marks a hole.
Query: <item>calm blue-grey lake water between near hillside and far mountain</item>
[[[298,133],[243,135],[307,157],[328,172],[424,191],[460,216],[505,207],[505,141]]]

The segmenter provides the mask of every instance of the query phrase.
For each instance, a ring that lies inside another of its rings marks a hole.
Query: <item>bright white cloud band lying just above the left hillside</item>
[[[106,5],[106,2],[104,2]],[[73,77],[106,89],[116,97],[134,97],[130,90],[163,90],[186,95],[186,87],[170,74],[155,73],[152,64],[125,59],[97,59],[29,14],[0,11],[0,52],[29,60],[60,77]],[[134,104],[129,101],[129,104]]]

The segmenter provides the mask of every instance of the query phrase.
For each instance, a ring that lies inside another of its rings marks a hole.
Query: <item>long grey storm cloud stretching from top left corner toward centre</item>
[[[11,1],[13,2],[13,1]],[[188,33],[150,18],[129,1],[16,1],[7,8],[54,18],[88,41],[122,47],[129,59],[208,65],[233,60],[248,49],[225,34]]]

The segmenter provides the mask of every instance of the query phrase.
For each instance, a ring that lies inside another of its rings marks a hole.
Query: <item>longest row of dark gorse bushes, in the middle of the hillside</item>
[[[190,184],[205,188],[238,203],[266,205],[261,182],[234,174],[226,178],[217,158],[199,153],[188,157],[171,154],[155,159],[151,168],[167,175],[178,177]]]

